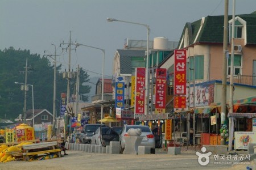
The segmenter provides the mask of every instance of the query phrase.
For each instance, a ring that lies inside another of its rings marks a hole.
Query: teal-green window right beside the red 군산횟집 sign
[[[194,69],[194,59],[195,59],[195,79],[204,79],[204,56],[195,56],[195,57],[189,57],[190,61],[188,62],[187,66],[187,78],[188,75],[190,76],[190,81],[192,81],[193,78],[193,69]],[[190,69],[190,71],[189,71]],[[189,74],[190,73],[190,74]]]

